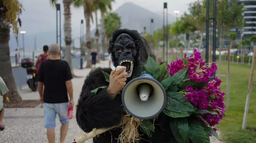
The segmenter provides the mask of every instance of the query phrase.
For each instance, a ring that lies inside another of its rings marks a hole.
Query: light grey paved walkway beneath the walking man
[[[107,62],[101,61],[97,66],[107,66]],[[83,85],[85,76],[90,72],[90,69],[74,69],[78,76],[83,78],[74,78],[74,101],[77,102],[79,93]],[[28,87],[20,90],[19,93],[23,100],[38,100],[38,92],[32,92]],[[75,113],[74,113],[75,115]],[[6,129],[0,131],[0,143],[47,143],[46,129],[44,129],[44,110],[39,106],[36,108],[6,108],[4,113],[4,125]],[[60,126],[58,119],[56,120],[55,142],[59,142]],[[82,133],[77,126],[76,119],[70,120],[70,126],[65,143],[71,143],[72,140]],[[89,140],[85,143],[92,143]],[[211,143],[219,143],[213,139]]]

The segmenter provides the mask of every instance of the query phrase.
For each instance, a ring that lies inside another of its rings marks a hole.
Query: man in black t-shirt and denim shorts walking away
[[[48,142],[55,143],[54,129],[58,114],[61,122],[60,143],[64,143],[69,124],[68,107],[74,106],[72,74],[68,62],[60,59],[59,45],[50,45],[49,53],[50,59],[41,63],[38,74],[38,91],[44,103],[44,128],[47,129]]]

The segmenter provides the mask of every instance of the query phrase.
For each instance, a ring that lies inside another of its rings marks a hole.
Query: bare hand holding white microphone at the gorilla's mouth
[[[113,70],[110,73],[109,76],[109,87],[107,88],[107,91],[109,93],[112,93],[114,95],[118,94],[126,85],[126,78],[127,72],[123,72],[126,69],[126,67],[122,67],[119,70]],[[123,72],[123,73],[121,73]]]

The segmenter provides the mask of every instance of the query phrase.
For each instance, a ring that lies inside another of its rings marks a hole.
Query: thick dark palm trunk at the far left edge
[[[7,21],[6,12],[0,9],[0,76],[5,80],[9,89],[8,98],[11,101],[21,101],[17,91],[10,60],[10,23]]]

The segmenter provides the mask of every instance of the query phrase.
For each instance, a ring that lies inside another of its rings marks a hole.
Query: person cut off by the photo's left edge
[[[0,76],[0,130],[4,130],[3,118],[4,118],[4,101],[7,100],[8,88],[4,83],[4,80]]]

